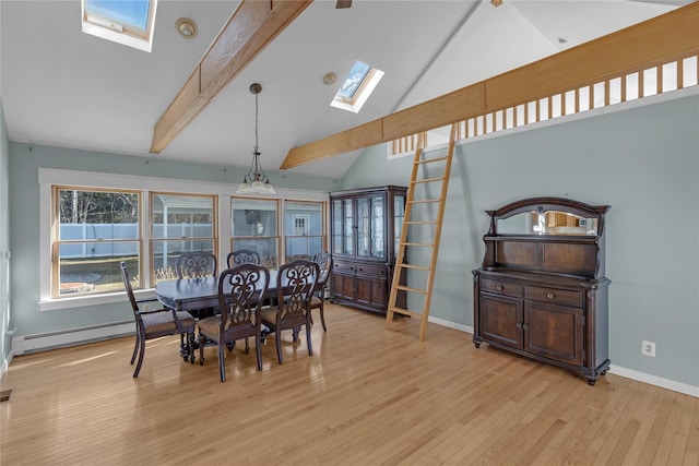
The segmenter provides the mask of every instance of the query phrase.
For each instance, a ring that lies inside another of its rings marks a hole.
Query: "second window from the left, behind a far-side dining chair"
[[[183,252],[216,254],[216,199],[213,195],[151,193],[151,282],[177,278]],[[221,270],[221,267],[218,267]]]

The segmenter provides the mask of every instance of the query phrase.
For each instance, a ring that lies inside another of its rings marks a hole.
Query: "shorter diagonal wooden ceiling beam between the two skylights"
[[[153,128],[158,154],[312,0],[242,0]]]

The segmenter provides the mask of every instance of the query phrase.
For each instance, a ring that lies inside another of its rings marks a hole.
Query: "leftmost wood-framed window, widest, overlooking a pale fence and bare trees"
[[[51,298],[123,289],[119,261],[140,270],[140,193],[55,187],[52,199]]]

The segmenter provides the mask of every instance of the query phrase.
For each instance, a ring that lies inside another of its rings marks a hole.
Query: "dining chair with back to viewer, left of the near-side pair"
[[[248,338],[254,337],[258,370],[262,370],[262,336],[260,309],[262,297],[270,286],[270,271],[262,265],[242,264],[225,270],[218,277],[221,314],[199,321],[199,363],[204,365],[204,346],[218,346],[221,381],[226,381],[224,347],[230,348],[245,338],[245,353],[250,351]]]

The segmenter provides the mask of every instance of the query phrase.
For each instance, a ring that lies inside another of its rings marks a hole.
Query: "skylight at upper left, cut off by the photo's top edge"
[[[157,0],[82,0],[83,33],[151,51]]]

